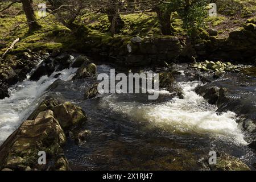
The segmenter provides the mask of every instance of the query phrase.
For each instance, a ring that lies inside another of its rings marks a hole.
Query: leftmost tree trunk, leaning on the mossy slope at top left
[[[36,16],[35,16],[34,8],[32,6],[32,0],[22,0],[22,7],[26,14],[29,31],[31,32],[41,28],[38,22],[36,22]]]

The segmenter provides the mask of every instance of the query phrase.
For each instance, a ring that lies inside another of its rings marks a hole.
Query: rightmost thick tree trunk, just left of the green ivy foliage
[[[160,29],[163,35],[174,35],[171,25],[171,11],[163,11],[160,7],[156,7],[156,14],[160,23]]]

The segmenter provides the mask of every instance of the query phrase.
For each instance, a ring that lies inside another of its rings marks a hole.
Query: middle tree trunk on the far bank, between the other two
[[[118,0],[109,0],[110,6],[106,10],[110,22],[110,32],[116,34],[125,24],[119,15]]]

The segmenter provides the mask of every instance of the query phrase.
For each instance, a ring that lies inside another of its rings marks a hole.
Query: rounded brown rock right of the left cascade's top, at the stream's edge
[[[97,67],[96,67],[95,64],[90,63],[90,64],[88,64],[86,66],[84,64],[76,72],[76,75],[73,77],[73,80],[87,78],[87,77],[92,77],[92,76],[94,76],[96,74],[96,72],[97,72]]]

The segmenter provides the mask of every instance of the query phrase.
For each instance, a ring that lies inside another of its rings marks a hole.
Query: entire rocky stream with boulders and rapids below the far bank
[[[110,68],[159,73],[159,99],[98,94],[96,76]],[[124,69],[82,55],[49,56],[0,101],[0,168],[254,170],[254,73],[222,61]],[[47,165],[38,164],[39,151]],[[208,163],[210,151],[217,164]]]

